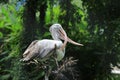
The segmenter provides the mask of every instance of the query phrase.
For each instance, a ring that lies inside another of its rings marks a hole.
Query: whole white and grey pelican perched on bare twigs
[[[23,53],[22,61],[29,61],[34,58],[46,60],[50,58],[53,53],[56,54],[57,61],[60,61],[65,56],[65,46],[67,42],[83,46],[67,37],[66,32],[60,24],[53,24],[50,26],[49,31],[53,40],[43,39],[33,41]],[[62,43],[61,40],[64,40],[64,43]]]

